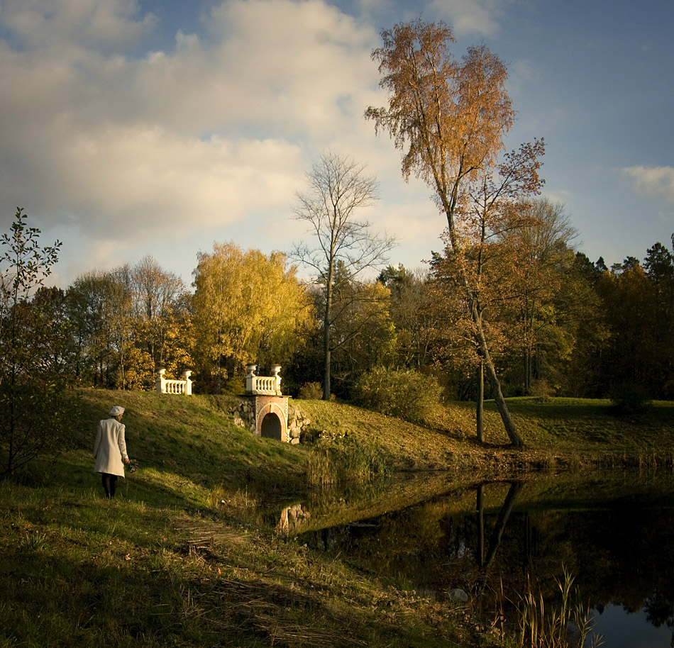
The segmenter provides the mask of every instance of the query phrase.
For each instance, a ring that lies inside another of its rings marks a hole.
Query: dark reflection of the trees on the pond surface
[[[501,582],[508,598],[519,600],[528,575],[555,604],[555,579],[566,568],[598,610],[610,604],[644,610],[653,625],[674,627],[674,510],[649,508],[636,496],[602,508],[574,503],[564,510],[562,498],[554,508],[524,510],[528,488],[482,484],[302,541],[342,552],[368,570],[404,576],[437,596],[450,588],[482,591],[484,610],[494,610]]]

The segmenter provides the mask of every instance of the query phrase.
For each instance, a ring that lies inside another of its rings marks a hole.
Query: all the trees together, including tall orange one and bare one
[[[460,58],[453,45],[443,23],[382,31],[372,58],[387,103],[365,111],[441,214],[427,267],[384,268],[395,240],[364,218],[375,176],[329,150],[289,206],[306,228],[289,257],[216,242],[192,286],[152,257],[44,286],[60,244],[41,248],[19,210],[1,239],[4,405],[31,410],[28,384],[44,387],[43,403],[57,382],[148,391],[160,368],[192,370],[195,391],[238,392],[245,364],[281,364],[292,395],[320,384],[323,398],[391,413],[404,402],[414,420],[441,392],[475,401],[479,440],[491,398],[521,447],[507,396],[613,398],[629,413],[674,398],[674,237],[643,260],[590,261],[564,206],[538,197],[543,138],[504,147],[507,68],[484,45]],[[9,447],[16,421],[3,411]]]

